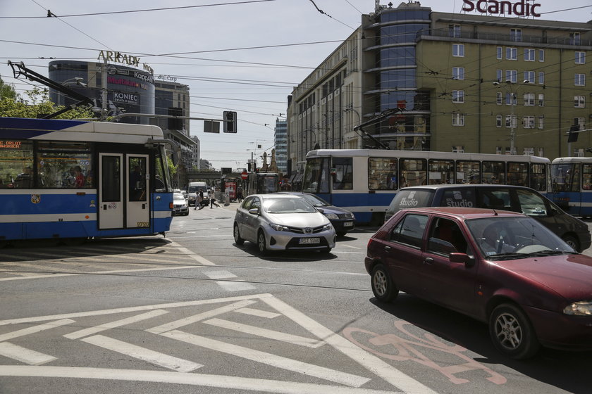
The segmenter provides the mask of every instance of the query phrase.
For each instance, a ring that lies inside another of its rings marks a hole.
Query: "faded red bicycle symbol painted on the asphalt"
[[[347,338],[352,343],[358,345],[360,348],[368,350],[369,352],[372,352],[375,355],[378,355],[379,357],[384,357],[388,360],[394,361],[414,361],[426,367],[435,369],[455,384],[469,382],[468,379],[457,378],[455,374],[460,374],[461,372],[471,371],[474,369],[479,369],[489,374],[489,376],[486,379],[488,381],[491,381],[492,383],[504,384],[507,382],[507,379],[504,376],[498,374],[495,371],[492,371],[483,364],[476,362],[475,360],[471,359],[471,357],[464,355],[463,352],[467,351],[466,348],[463,348],[460,345],[448,345],[447,343],[443,343],[438,338],[436,338],[436,336],[433,336],[429,333],[424,334],[425,338],[420,338],[418,336],[413,335],[412,333],[409,333],[409,331],[405,329],[405,325],[413,326],[411,323],[402,320],[395,322],[395,327],[399,329],[399,331],[405,334],[405,336],[414,338],[417,341],[411,341],[409,339],[402,338],[401,336],[397,336],[395,334],[379,335],[371,331],[366,331],[364,329],[356,329],[352,327],[344,329],[343,335],[345,336],[345,338]],[[360,334],[366,334],[364,336],[364,340],[367,341],[370,345],[372,345],[372,347],[363,345],[362,343],[357,341],[354,338],[354,333],[356,333],[357,336],[361,336]],[[384,348],[388,345],[392,346],[390,350],[393,350],[393,348],[394,350],[396,350],[395,355],[376,350],[376,347]],[[464,362],[461,362],[460,364],[450,365],[448,367],[442,367],[436,364],[436,362],[429,360],[428,357],[426,357],[426,355],[421,353],[417,348],[414,348],[414,346],[446,352],[450,355],[455,355],[459,357],[460,359],[464,360]]]

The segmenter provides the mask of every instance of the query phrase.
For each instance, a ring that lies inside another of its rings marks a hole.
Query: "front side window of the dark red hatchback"
[[[430,228],[428,252],[448,256],[450,253],[471,254],[467,240],[454,221],[435,217]]]

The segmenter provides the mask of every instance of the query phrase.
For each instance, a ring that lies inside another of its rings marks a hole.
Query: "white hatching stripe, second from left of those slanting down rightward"
[[[102,335],[82,338],[80,341],[99,346],[100,348],[106,348],[113,352],[121,353],[122,355],[134,357],[151,364],[156,364],[164,368],[173,369],[174,371],[190,372],[203,367],[202,364],[197,364],[196,362],[165,355],[161,352],[155,352],[154,350],[142,348],[141,346],[132,345],[131,343],[118,341],[117,339],[108,338]]]

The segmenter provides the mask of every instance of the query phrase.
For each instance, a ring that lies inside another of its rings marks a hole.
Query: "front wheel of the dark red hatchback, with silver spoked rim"
[[[541,346],[529,318],[513,304],[495,307],[489,317],[489,335],[495,348],[514,360],[534,356]]]

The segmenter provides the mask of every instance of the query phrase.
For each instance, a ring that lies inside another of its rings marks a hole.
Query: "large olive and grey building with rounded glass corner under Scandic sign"
[[[292,91],[292,168],[314,148],[583,154],[592,135],[568,153],[566,132],[592,123],[591,51],[592,22],[377,2]]]

